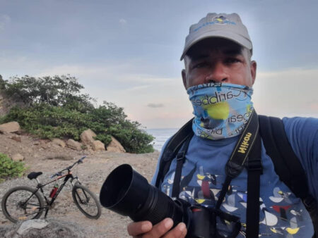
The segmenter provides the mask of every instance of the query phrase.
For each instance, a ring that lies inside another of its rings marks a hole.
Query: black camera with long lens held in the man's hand
[[[129,216],[134,221],[149,220],[153,225],[165,218],[172,218],[174,227],[187,226],[187,237],[223,237],[216,229],[217,217],[235,223],[230,236],[240,231],[239,218],[219,209],[192,205],[183,199],[172,199],[156,187],[131,165],[123,164],[112,170],[100,189],[100,203],[107,209]]]

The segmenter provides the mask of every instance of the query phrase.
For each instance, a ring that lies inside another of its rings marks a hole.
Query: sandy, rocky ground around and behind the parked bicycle
[[[20,139],[17,140],[11,139],[11,137],[12,134],[0,134],[0,152],[9,156],[17,153],[23,155],[25,165],[28,166],[26,175],[32,171],[41,171],[43,172],[43,175],[39,177],[41,182],[49,181],[49,175],[66,168],[81,156],[86,155],[84,163],[74,168],[73,173],[77,174],[81,182],[98,197],[100,187],[107,175],[122,163],[129,163],[150,181],[159,156],[158,151],[152,154],[74,151],[54,145],[49,140],[40,140],[27,134],[18,135]],[[35,182],[28,180],[25,176],[1,183],[0,200],[8,189],[20,185],[35,187]],[[49,194],[52,186],[45,188],[46,193]],[[102,215],[98,220],[86,218],[73,203],[70,186],[64,187],[59,194],[56,206],[49,211],[48,218],[76,223],[88,230],[88,234],[90,234],[88,237],[128,237],[126,225],[131,221],[129,218],[117,215],[105,208],[102,208]],[[0,211],[0,227],[11,224]]]

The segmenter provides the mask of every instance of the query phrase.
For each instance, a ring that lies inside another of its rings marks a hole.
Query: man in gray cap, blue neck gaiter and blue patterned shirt
[[[257,63],[251,61],[252,42],[240,17],[208,13],[190,27],[181,59],[182,80],[194,107],[194,136],[182,165],[179,198],[189,203],[215,207],[225,183],[225,165],[254,110],[251,95]],[[273,85],[274,87],[274,85]],[[284,118],[288,141],[305,170],[310,194],[318,199],[318,120]],[[164,149],[163,149],[164,150]],[[162,155],[161,155],[162,156]],[[159,159],[160,161],[160,159]],[[159,163],[158,163],[159,164]],[[312,237],[314,228],[302,201],[279,180],[271,158],[261,145],[259,237]],[[177,160],[165,174],[160,189],[172,196]],[[158,167],[153,177],[155,184]],[[220,209],[240,218],[238,237],[246,235],[247,170],[230,182]],[[165,218],[156,225],[131,223],[134,237],[185,237],[187,228]],[[217,222],[220,235],[230,234],[230,225]]]

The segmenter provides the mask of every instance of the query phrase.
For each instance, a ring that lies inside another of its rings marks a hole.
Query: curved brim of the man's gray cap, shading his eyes
[[[240,44],[241,46],[243,46],[249,50],[252,50],[252,42],[250,42],[249,39],[242,37],[241,35],[237,35],[233,32],[225,32],[225,31],[218,31],[218,30],[208,31],[208,32],[200,35],[199,37],[193,37],[193,40],[186,47],[184,47],[180,61],[182,61],[185,54],[187,54],[187,51],[194,44],[201,41],[202,39],[212,38],[212,37],[220,37],[220,38],[230,39],[232,42],[235,42],[235,43]]]

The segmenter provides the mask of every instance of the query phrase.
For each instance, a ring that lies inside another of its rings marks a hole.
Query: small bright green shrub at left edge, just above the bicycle
[[[9,177],[21,177],[25,170],[23,162],[13,161],[6,154],[0,153],[0,182]]]

